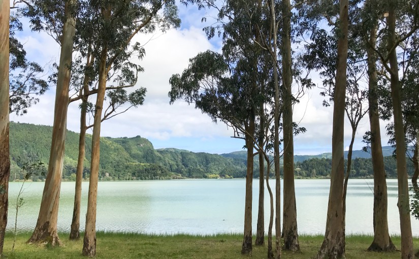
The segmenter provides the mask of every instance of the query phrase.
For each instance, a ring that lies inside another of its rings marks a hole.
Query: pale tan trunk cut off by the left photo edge
[[[9,1],[0,1],[0,257],[9,205]]]

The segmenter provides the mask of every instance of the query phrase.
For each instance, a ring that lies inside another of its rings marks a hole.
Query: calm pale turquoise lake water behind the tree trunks
[[[270,181],[275,189],[274,180]],[[15,203],[21,183],[10,182],[8,230],[14,228]],[[61,184],[58,230],[69,232],[74,182]],[[330,180],[296,180],[299,233],[324,234]],[[18,230],[32,231],[38,218],[43,182],[26,182],[19,209]],[[84,229],[88,182],[82,185],[81,228]],[[351,179],[348,184],[346,232],[372,234],[373,181]],[[245,180],[169,180],[100,182],[96,229],[150,234],[241,233],[244,222]],[[388,180],[389,228],[400,233],[397,181]],[[253,180],[253,231],[256,230],[259,179]],[[269,195],[265,190],[265,229],[269,224]],[[412,217],[419,236],[419,221]]]

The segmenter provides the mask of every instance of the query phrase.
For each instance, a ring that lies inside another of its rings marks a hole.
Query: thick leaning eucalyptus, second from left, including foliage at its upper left
[[[29,243],[61,243],[57,234],[58,201],[66,140],[76,4],[75,0],[39,0],[34,1],[26,13],[31,19],[33,30],[47,31],[61,45],[48,172],[37,225]]]

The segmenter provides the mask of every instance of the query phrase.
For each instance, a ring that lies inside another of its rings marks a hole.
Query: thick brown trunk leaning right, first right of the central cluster
[[[348,0],[340,0],[336,84],[333,107],[332,172],[325,239],[316,258],[344,258],[343,230],[343,128],[345,120],[346,67],[348,55]]]

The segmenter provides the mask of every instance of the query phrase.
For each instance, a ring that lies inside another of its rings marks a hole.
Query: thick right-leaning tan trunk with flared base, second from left
[[[61,53],[55,95],[54,124],[52,143],[48,164],[48,175],[45,180],[41,208],[34,233],[28,243],[48,242],[61,244],[57,234],[58,201],[64,161],[64,150],[67,130],[67,109],[69,104],[70,64],[73,56],[73,37],[76,20],[70,9],[75,0],[66,1],[66,22],[62,29]]]

